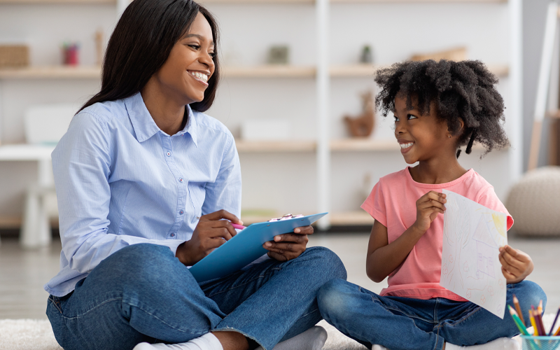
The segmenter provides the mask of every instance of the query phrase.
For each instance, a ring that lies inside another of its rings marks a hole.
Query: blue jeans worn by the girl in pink
[[[527,323],[531,305],[542,300],[544,307],[547,301],[531,281],[507,284],[508,305],[513,306],[514,294]],[[475,345],[519,334],[507,308],[500,319],[472,302],[381,297],[342,279],[321,287],[317,300],[328,323],[370,349],[379,344],[391,350],[440,350],[444,342]]]

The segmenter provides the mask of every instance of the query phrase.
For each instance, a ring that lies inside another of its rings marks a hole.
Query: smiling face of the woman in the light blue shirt
[[[204,99],[208,80],[214,73],[214,37],[209,22],[198,13],[193,25],[179,39],[154,78],[162,90],[174,95],[181,104]]]

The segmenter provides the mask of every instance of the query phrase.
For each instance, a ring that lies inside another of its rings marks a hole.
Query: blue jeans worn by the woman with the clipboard
[[[346,269],[321,247],[199,284],[167,246],[134,244],[103,260],[73,293],[51,295],[47,316],[65,350],[187,342],[211,330],[234,330],[272,349],[321,320],[316,294],[332,279],[346,279]]]

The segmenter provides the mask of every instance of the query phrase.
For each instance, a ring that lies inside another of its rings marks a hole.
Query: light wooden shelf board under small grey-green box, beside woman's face
[[[287,64],[267,64],[262,66],[224,66],[226,78],[313,78],[314,66],[290,66]]]

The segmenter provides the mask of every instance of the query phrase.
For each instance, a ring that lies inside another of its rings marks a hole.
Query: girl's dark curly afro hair
[[[483,155],[510,144],[502,126],[505,106],[494,87],[498,78],[480,61],[400,62],[379,69],[375,82],[381,87],[375,106],[384,117],[395,110],[397,95],[407,97],[409,109],[414,99],[414,108],[423,114],[430,113],[434,102],[435,115],[447,122],[452,135],[460,133],[457,148],[467,145],[467,154],[474,141],[486,148]],[[460,153],[458,149],[457,158]]]

